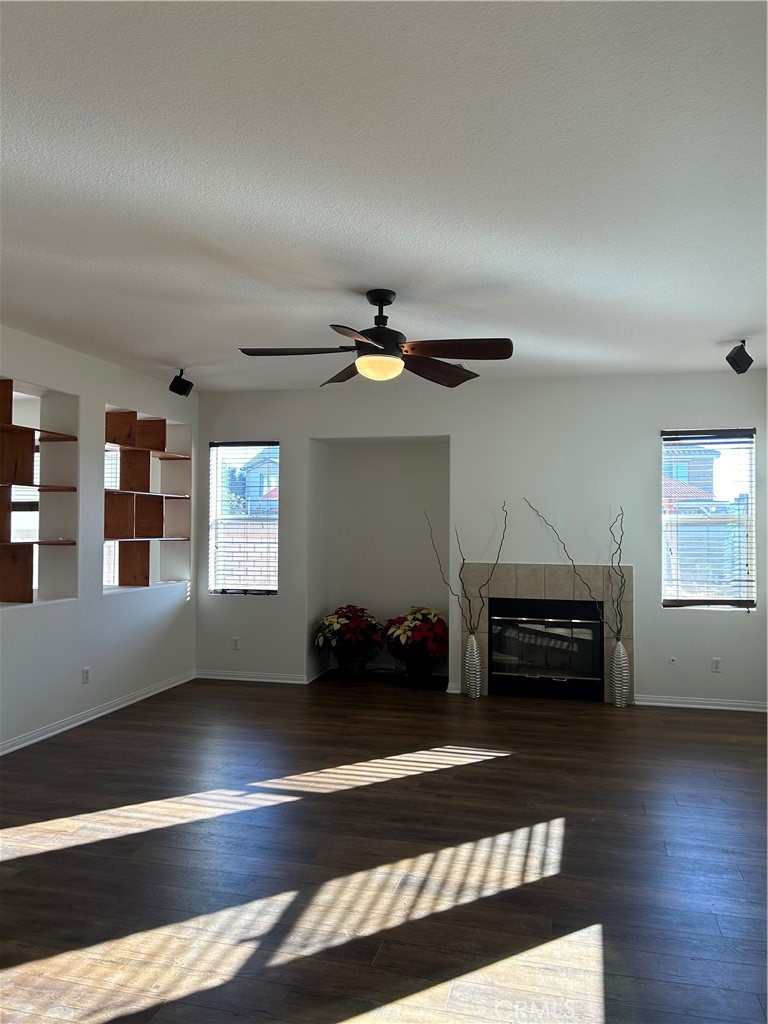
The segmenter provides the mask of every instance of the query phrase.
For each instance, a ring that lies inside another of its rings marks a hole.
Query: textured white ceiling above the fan
[[[412,339],[511,337],[482,376],[765,366],[763,3],[2,8],[11,327],[314,387],[348,356],[239,347],[385,287]]]

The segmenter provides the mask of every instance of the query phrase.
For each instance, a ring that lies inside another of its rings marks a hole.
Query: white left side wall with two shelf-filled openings
[[[101,563],[104,406],[194,424],[198,399],[10,329],[0,357],[3,377],[76,395],[80,407],[78,596],[0,609],[0,736],[11,750],[194,676],[194,594],[183,584],[104,594]]]

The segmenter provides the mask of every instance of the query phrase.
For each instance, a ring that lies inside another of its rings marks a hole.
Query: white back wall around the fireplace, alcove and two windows
[[[243,678],[306,679],[307,629],[316,611],[307,604],[309,514],[316,499],[310,493],[316,482],[309,472],[311,438],[446,436],[450,523],[460,531],[468,561],[493,559],[505,500],[510,514],[503,560],[561,561],[523,496],[557,524],[577,562],[606,561],[608,523],[622,504],[625,559],[635,566],[638,699],[765,707],[765,372],[737,376],[726,370],[520,382],[494,381],[488,373],[455,391],[408,376],[386,385],[357,378],[316,391],[262,392],[257,403],[249,392],[203,393],[202,445],[233,438],[281,442],[281,592],[278,597],[210,597],[202,572],[198,664],[237,671]],[[759,431],[760,609],[752,614],[663,609],[659,431],[733,426]],[[203,480],[201,498],[207,499]],[[203,530],[198,532],[201,537]],[[426,535],[423,543],[428,544]],[[454,546],[454,573],[456,568]],[[451,626],[455,688],[460,623],[453,605]],[[247,650],[228,651],[232,633],[248,636]],[[710,671],[713,655],[723,658],[721,675]]]

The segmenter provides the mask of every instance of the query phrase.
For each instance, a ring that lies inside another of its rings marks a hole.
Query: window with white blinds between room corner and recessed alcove
[[[208,591],[278,593],[280,445],[210,445]]]

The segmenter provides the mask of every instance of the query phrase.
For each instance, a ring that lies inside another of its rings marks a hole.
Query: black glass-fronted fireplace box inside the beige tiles
[[[488,695],[603,700],[602,602],[490,598]]]

